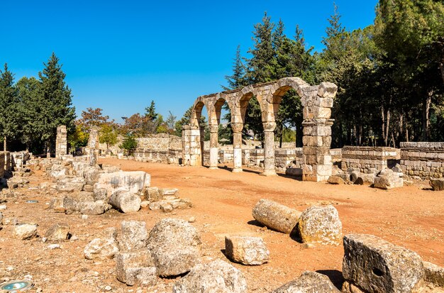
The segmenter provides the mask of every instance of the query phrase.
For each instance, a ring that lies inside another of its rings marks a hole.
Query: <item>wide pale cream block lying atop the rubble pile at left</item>
[[[150,187],[150,175],[143,171],[101,173],[94,184],[94,189],[106,189],[108,196],[117,190],[140,195],[144,187]]]

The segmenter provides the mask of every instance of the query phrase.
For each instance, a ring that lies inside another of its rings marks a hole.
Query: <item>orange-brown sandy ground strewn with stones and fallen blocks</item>
[[[194,216],[193,225],[203,240],[203,262],[226,260],[226,235],[264,238],[270,262],[254,267],[233,264],[245,275],[249,292],[270,292],[305,270],[328,275],[340,287],[342,245],[304,248],[286,234],[258,226],[251,211],[262,198],[299,211],[313,204],[333,204],[343,223],[343,234],[373,234],[416,251],[423,260],[444,266],[444,192],[432,192],[427,184],[384,191],[367,186],[300,182],[284,176],[262,177],[259,170],[232,173],[223,166],[209,170],[116,159],[100,161],[122,170],[144,170],[151,175],[151,186],[179,188],[179,196],[191,199],[194,207],[170,214],[148,208],[135,214],[111,210],[82,219],[80,214],[66,215],[48,209],[54,194],[35,188],[48,181],[37,172],[30,177],[30,188],[16,190],[16,196],[6,202],[5,224],[0,231],[0,280],[32,277],[35,288],[43,292],[171,292],[174,279],[160,280],[154,289],[127,287],[116,280],[114,260],[86,260],[83,250],[96,233],[107,227],[119,228],[122,220],[145,221],[151,228],[165,217],[187,220]],[[28,204],[28,199],[39,202]],[[59,243],[61,248],[53,250],[41,238],[19,241],[12,237],[13,226],[7,224],[13,219],[38,223],[40,237],[52,223],[68,223],[77,240]],[[106,291],[106,286],[111,290]]]

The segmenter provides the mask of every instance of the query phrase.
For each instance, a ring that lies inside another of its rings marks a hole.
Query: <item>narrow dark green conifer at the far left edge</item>
[[[0,140],[4,141],[6,150],[7,140],[12,140],[18,135],[18,99],[17,90],[13,84],[14,75],[4,65],[4,70],[0,70]]]

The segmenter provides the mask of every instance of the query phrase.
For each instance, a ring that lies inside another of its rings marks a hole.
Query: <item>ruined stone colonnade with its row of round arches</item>
[[[242,130],[245,122],[248,101],[255,98],[260,104],[262,124],[265,132],[264,171],[262,175],[275,175],[274,167],[274,128],[275,116],[282,96],[294,89],[304,107],[303,165],[302,177],[306,181],[324,181],[331,175],[331,107],[338,87],[330,82],[311,86],[299,77],[286,77],[277,82],[254,84],[243,89],[199,96],[194,101],[190,123],[182,131],[182,162],[184,165],[201,165],[204,149],[204,130],[199,127],[199,119],[204,106],[208,111],[210,138],[210,168],[218,166],[218,124],[221,108],[225,102],[231,109],[233,128],[234,168],[242,171]]]

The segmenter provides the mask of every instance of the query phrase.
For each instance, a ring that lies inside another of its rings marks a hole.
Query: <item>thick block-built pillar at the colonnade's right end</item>
[[[329,82],[319,85],[318,93],[304,101],[304,136],[302,142],[302,180],[326,181],[331,176],[333,162],[331,146],[331,108],[338,87]]]

